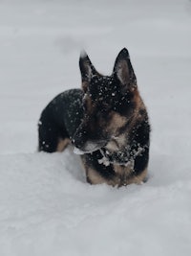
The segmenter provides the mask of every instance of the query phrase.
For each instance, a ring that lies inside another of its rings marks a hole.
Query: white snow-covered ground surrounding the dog
[[[149,180],[86,183],[39,153],[37,120],[80,86],[86,49],[110,74],[127,47],[152,124]],[[0,255],[191,255],[191,1],[0,1]]]

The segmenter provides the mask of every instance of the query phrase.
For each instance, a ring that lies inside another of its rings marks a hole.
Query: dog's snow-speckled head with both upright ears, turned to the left
[[[79,68],[84,119],[74,134],[74,146],[83,152],[110,148],[112,144],[117,149],[117,138],[127,128],[138,98],[129,53],[125,48],[119,52],[111,76],[100,75],[86,53],[79,58]]]

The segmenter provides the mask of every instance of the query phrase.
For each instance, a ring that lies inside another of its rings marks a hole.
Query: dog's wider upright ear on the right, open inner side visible
[[[116,74],[117,79],[125,87],[134,89],[137,87],[137,79],[134,73],[133,66],[131,64],[129,52],[126,48],[123,48],[116,59],[114,65],[114,74]]]

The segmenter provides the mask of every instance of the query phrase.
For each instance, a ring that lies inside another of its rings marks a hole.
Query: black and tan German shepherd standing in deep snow
[[[127,49],[111,76],[102,76],[84,52],[79,58],[82,89],[56,96],[42,111],[39,151],[81,152],[87,181],[113,186],[146,180],[150,125]]]

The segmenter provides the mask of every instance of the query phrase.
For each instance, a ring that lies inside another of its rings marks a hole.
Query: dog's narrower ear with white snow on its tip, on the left
[[[81,72],[82,89],[86,92],[91,78],[98,73],[85,51],[82,51],[80,54],[79,69]]]

